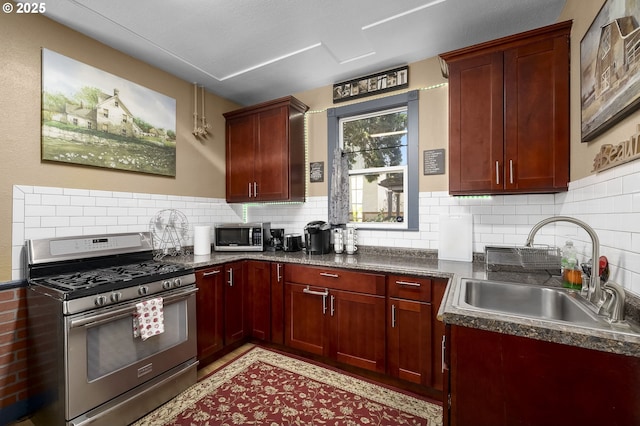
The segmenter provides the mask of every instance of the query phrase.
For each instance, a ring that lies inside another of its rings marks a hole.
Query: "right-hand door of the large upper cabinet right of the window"
[[[504,52],[507,190],[567,188],[568,58],[568,36]]]

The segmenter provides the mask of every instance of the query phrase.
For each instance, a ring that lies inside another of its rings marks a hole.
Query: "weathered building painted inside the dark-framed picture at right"
[[[634,16],[618,18],[603,26],[596,59],[596,98],[640,72],[640,26]]]

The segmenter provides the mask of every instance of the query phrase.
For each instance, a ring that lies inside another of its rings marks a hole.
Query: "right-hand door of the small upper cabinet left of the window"
[[[257,116],[254,173],[259,201],[289,198],[288,111],[282,106]]]

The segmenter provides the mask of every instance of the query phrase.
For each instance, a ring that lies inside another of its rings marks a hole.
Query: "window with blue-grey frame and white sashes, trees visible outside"
[[[327,111],[329,202],[333,152],[349,174],[349,223],[363,229],[418,229],[418,92]]]

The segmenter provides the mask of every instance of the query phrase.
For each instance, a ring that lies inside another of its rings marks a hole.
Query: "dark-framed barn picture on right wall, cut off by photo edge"
[[[582,142],[640,107],[640,2],[607,0],[580,42]]]

